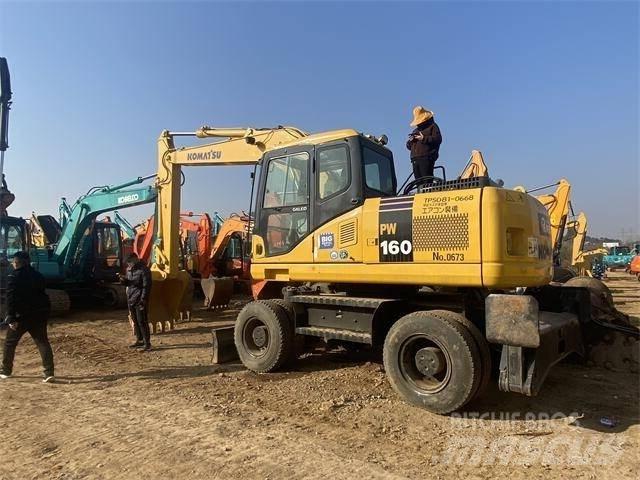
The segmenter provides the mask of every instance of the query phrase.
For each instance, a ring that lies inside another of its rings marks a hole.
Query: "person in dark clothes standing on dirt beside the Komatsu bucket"
[[[130,348],[151,350],[151,332],[147,319],[147,306],[151,294],[151,271],[135,253],[127,258],[127,272],[120,278],[127,286],[127,303],[133,319],[136,342]]]

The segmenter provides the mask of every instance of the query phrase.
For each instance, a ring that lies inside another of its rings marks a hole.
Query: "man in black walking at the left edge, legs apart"
[[[13,359],[18,342],[29,333],[40,351],[44,382],[53,381],[53,351],[47,336],[47,319],[51,304],[44,291],[44,277],[31,268],[29,254],[17,252],[13,256],[13,272],[7,285],[7,318],[9,325],[4,340],[0,379],[7,379],[13,371]]]

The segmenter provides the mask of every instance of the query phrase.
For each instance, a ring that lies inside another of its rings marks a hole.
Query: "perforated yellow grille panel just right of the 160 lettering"
[[[414,250],[467,250],[469,214],[420,216],[413,222]]]

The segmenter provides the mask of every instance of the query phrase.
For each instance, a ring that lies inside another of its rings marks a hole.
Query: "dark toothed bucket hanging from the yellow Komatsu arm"
[[[185,271],[179,271],[175,278],[164,278],[161,272],[152,271],[151,298],[149,301],[149,323],[151,330],[164,332],[174,328],[176,318],[185,306],[191,307],[193,300],[193,279]]]

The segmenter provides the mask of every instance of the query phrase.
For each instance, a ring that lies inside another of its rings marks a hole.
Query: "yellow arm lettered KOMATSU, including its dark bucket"
[[[150,316],[163,325],[172,322],[178,312],[190,308],[190,275],[179,269],[180,187],[183,166],[256,165],[267,150],[307,136],[294,127],[210,128],[195,132],[165,130],[158,139],[156,190],[157,237],[153,249],[151,273],[153,288]],[[176,137],[216,138],[205,145],[175,146]]]

